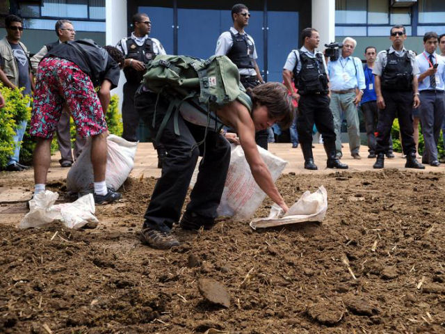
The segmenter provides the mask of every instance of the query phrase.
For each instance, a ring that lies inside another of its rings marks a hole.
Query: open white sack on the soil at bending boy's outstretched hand
[[[268,218],[257,218],[250,222],[250,227],[271,228],[303,221],[323,221],[327,210],[327,192],[324,186],[318,188],[315,193],[305,191],[298,202],[294,203],[289,211],[283,214],[283,210],[277,204],[270,209]],[[282,218],[280,218],[282,216]]]

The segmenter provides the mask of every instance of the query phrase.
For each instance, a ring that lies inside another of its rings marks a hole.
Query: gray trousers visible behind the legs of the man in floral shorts
[[[62,158],[58,161],[62,164],[65,161],[74,162],[82,152],[86,143],[86,138],[82,138],[79,134],[76,134],[76,142],[74,143],[74,159],[71,152],[71,134],[70,134],[70,113],[67,111],[66,106],[60,115],[60,119],[57,123],[57,143],[60,155]]]

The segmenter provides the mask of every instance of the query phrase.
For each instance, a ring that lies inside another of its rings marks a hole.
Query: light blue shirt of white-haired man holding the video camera
[[[331,90],[366,88],[363,65],[359,58],[339,56],[337,61],[327,64]]]

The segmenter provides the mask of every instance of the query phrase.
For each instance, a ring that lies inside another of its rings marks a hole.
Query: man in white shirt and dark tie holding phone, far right
[[[434,167],[440,165],[437,159],[437,142],[445,111],[445,62],[436,54],[438,38],[437,33],[432,31],[423,35],[424,51],[416,56],[416,63],[421,72],[417,79],[421,101],[420,121],[425,141],[422,163]]]

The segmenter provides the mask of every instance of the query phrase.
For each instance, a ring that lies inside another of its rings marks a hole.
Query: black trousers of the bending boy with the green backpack
[[[154,110],[156,95],[137,93],[136,106]],[[159,99],[156,106],[156,123],[152,127],[152,113],[143,120],[156,136],[168,108],[168,101]],[[168,231],[179,221],[182,205],[195,169],[197,158],[202,156],[195,186],[186,210],[206,218],[216,218],[216,209],[223,195],[225,179],[230,163],[230,145],[225,137],[205,127],[186,122],[177,116],[179,135],[175,134],[175,116],[171,116],[163,129],[159,143],[165,148],[162,173],[145,212],[144,227]],[[205,136],[205,139],[204,139]],[[204,140],[204,143],[200,143]]]

